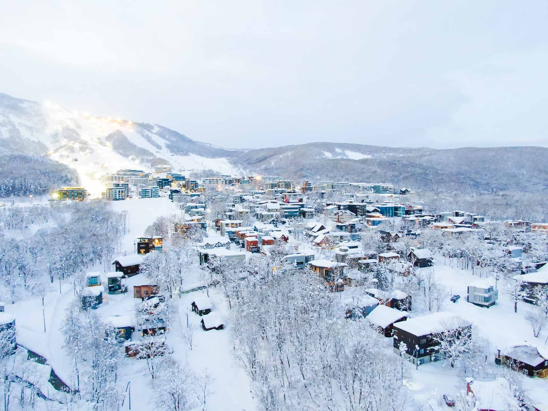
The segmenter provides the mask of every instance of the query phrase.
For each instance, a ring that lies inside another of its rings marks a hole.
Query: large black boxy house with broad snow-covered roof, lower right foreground
[[[399,343],[405,343],[407,349],[403,356],[413,364],[417,362],[424,364],[442,359],[443,356],[437,349],[439,343],[433,337],[444,331],[452,331],[447,328],[453,323],[458,323],[457,321],[453,322],[453,318],[455,318],[453,313],[442,311],[393,324],[394,352],[401,355]],[[471,326],[458,326],[455,330],[470,334]],[[416,346],[418,347],[415,349]]]

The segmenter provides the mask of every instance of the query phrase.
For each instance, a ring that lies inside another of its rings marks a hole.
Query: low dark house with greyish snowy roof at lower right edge
[[[548,347],[528,343],[498,350],[495,363],[510,367],[530,377],[548,378]]]

